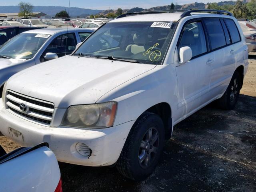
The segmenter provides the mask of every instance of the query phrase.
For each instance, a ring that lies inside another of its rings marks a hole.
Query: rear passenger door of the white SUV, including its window
[[[235,52],[222,18],[204,19],[204,24],[208,34],[210,52],[214,56],[213,62],[208,65],[213,72],[209,90],[210,94],[215,97],[225,92],[232,77],[236,63]]]

